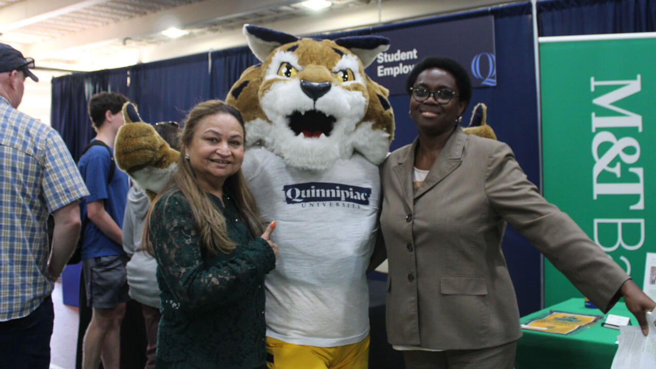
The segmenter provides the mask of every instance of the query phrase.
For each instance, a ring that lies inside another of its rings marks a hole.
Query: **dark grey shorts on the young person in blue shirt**
[[[87,306],[113,309],[130,301],[128,295],[127,255],[99,256],[83,259],[82,272],[87,288]]]

